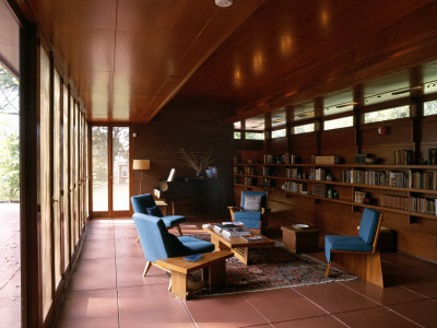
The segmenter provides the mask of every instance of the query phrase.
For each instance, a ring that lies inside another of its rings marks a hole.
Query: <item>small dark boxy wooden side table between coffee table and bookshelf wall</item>
[[[311,253],[319,248],[320,230],[308,226],[299,229],[294,225],[281,226],[282,239],[286,249],[293,253]]]

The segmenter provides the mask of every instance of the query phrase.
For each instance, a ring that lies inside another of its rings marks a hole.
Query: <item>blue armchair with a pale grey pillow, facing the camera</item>
[[[241,206],[228,207],[232,221],[239,221],[245,227],[262,231],[269,213],[268,191],[241,191]]]

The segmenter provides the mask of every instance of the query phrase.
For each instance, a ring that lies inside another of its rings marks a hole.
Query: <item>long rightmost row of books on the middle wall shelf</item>
[[[398,188],[437,190],[437,172],[342,171],[341,181]]]

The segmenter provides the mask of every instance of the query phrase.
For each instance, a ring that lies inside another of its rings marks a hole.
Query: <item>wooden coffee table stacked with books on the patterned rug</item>
[[[249,249],[251,247],[273,246],[274,242],[265,236],[262,241],[247,242],[240,237],[225,238],[217,234],[213,227],[203,226],[203,230],[211,235],[211,243],[215,245],[215,250],[229,250],[234,256],[247,266],[249,261]],[[252,233],[255,235],[255,233]]]

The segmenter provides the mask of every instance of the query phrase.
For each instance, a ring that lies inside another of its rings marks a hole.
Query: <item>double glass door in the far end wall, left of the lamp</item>
[[[129,215],[129,127],[92,127],[92,204],[94,218]]]

